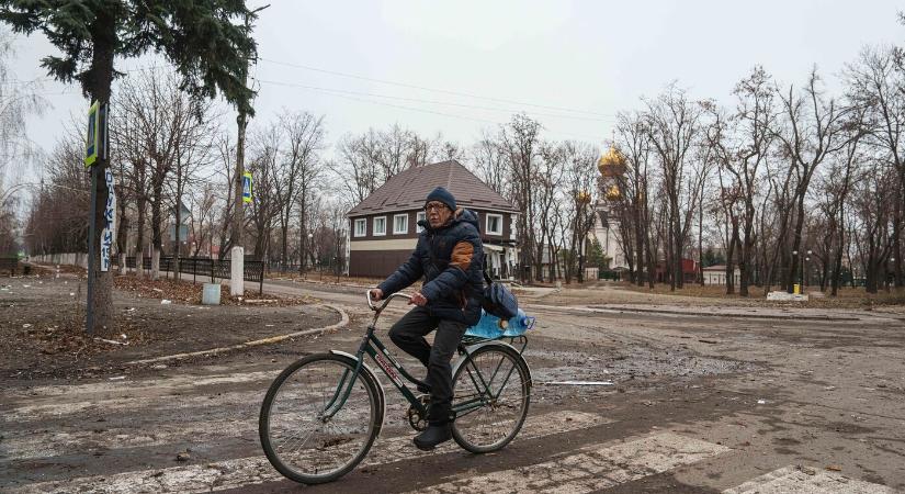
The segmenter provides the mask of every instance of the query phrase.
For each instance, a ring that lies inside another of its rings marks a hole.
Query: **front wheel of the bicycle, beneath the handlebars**
[[[313,355],[287,367],[270,385],[258,424],[261,447],[287,479],[331,482],[367,454],[381,430],[383,407],[378,384],[354,370],[349,357]],[[338,409],[329,416],[333,406]]]

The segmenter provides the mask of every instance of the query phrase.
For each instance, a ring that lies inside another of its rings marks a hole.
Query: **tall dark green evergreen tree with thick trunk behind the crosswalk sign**
[[[215,98],[217,91],[240,114],[252,115],[253,91],[247,87],[249,61],[257,55],[251,37],[256,12],[244,0],[0,0],[0,22],[16,33],[41,32],[61,55],[46,56],[42,66],[55,79],[81,86],[89,104],[110,102],[117,76],[115,59],[137,57],[150,50],[167,57],[182,76],[182,88],[193,98]],[[86,105],[87,108],[88,105]],[[93,212],[103,223],[108,187],[105,159],[98,159],[99,200]],[[89,242],[101,242],[95,228]],[[100,249],[94,259],[93,325],[88,330],[112,334],[113,278],[100,272]]]

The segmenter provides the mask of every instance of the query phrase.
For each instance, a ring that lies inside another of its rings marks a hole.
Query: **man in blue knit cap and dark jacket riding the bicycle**
[[[371,291],[375,300],[398,292],[423,277],[411,296],[417,305],[389,329],[389,338],[428,368],[425,383],[431,404],[428,428],[415,437],[419,449],[430,450],[452,438],[452,368],[450,360],[468,326],[480,319],[484,292],[484,250],[477,215],[457,210],[455,198],[438,187],[425,201],[427,221],[411,257]],[[425,336],[437,329],[433,346]]]

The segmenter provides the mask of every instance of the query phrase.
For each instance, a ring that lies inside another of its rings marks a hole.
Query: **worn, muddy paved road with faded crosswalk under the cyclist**
[[[269,290],[343,305],[353,324],[121,380],[3,390],[0,491],[297,491],[261,454],[259,403],[298,355],[353,349],[367,314],[358,289]],[[365,462],[306,492],[905,491],[901,319],[541,302],[527,352],[531,413],[509,447],[483,457],[454,445],[420,452],[409,442],[406,406],[389,392],[384,431]],[[548,384],[569,380],[613,385]]]

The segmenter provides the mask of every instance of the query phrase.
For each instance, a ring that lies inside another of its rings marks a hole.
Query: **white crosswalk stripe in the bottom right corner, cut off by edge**
[[[827,471],[804,471],[790,465],[727,489],[723,494],[894,494],[885,485],[849,479]]]

